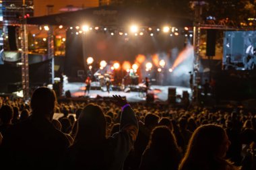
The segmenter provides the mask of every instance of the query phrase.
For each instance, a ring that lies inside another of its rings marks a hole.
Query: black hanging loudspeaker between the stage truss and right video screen
[[[216,30],[207,30],[206,56],[215,56]]]

